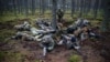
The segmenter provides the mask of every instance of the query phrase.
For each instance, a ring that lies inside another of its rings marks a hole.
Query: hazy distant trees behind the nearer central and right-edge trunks
[[[97,18],[98,10],[101,10],[102,0],[56,0],[57,9],[64,12],[72,11],[72,17],[77,11],[79,17],[92,11],[94,18]],[[0,14],[14,12],[14,14],[23,13],[25,16],[35,14],[36,10],[44,14],[46,10],[53,9],[52,0],[0,0]]]

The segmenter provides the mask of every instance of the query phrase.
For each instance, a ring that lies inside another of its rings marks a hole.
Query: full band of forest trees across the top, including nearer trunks
[[[103,11],[102,30],[110,30],[110,0],[0,0],[0,16],[10,12],[28,17],[35,16],[37,11],[43,16],[45,11],[52,11],[53,23],[56,23],[57,9],[64,13],[69,10],[73,18],[76,12],[78,18],[91,12],[94,19],[97,19],[98,12]]]

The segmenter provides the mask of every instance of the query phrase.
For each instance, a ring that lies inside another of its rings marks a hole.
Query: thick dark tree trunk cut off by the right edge
[[[103,0],[102,1],[102,8],[103,8],[103,20],[102,20],[102,27],[101,30],[103,32],[110,31],[110,0]]]

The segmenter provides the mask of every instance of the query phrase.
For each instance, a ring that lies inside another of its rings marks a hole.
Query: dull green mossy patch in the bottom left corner
[[[0,62],[22,62],[22,54],[9,51],[0,51]]]

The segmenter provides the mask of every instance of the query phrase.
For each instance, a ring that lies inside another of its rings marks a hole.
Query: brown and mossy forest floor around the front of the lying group
[[[22,21],[15,21],[21,23]],[[0,24],[0,35],[7,35],[4,30],[13,30],[14,22],[7,22]],[[14,31],[14,30],[13,30]],[[105,40],[86,40],[81,45],[81,60],[80,62],[110,62],[110,33],[103,33]],[[8,37],[8,35],[7,35]],[[67,50],[65,46],[55,46],[55,49],[42,58],[42,49],[37,42],[34,41],[15,41],[10,40],[3,42],[0,40],[0,62],[68,62],[69,58],[74,54],[79,55],[75,50]]]

